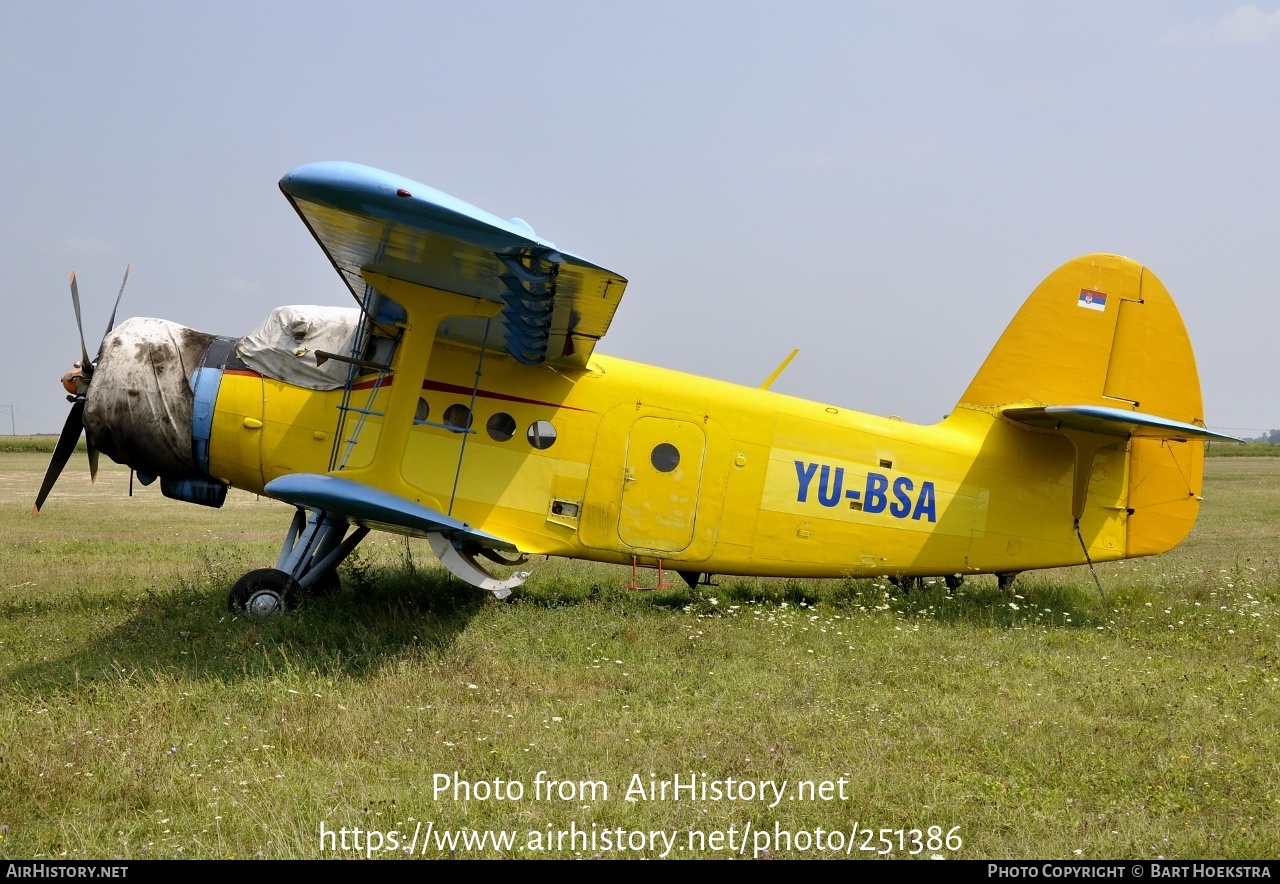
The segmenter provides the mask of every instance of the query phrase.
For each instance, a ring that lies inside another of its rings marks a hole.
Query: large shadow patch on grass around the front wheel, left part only
[[[233,578],[206,571],[151,590],[118,626],[61,656],[14,668],[3,684],[24,692],[92,692],[122,681],[239,681],[291,672],[366,678],[411,658],[447,652],[485,604],[495,604],[439,568],[367,565],[356,560],[347,586],[302,601],[287,617],[218,612]],[[96,619],[119,600],[36,600],[23,613],[78,606]],[[32,610],[32,608],[35,610]]]

